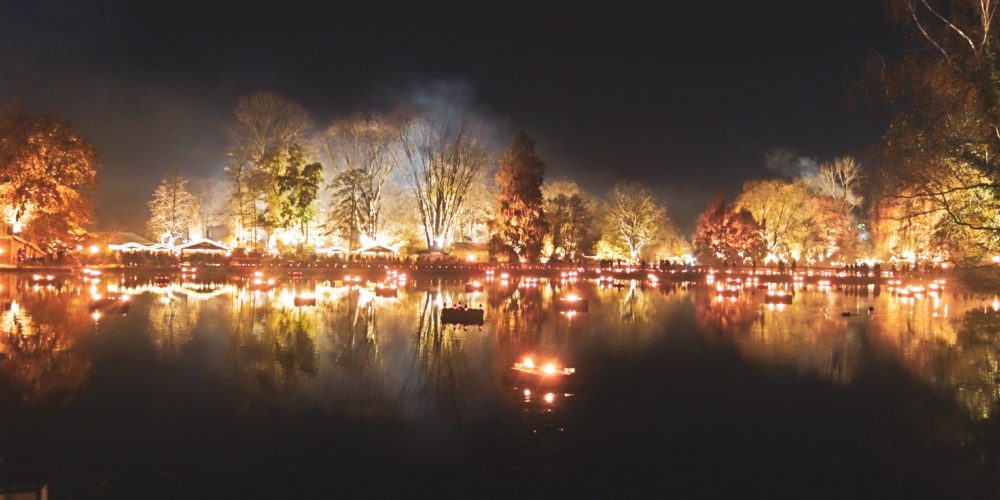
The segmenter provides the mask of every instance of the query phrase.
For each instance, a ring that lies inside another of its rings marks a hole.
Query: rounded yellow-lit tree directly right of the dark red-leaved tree
[[[798,259],[809,232],[812,201],[800,184],[770,179],[745,183],[734,205],[757,222],[765,252]]]

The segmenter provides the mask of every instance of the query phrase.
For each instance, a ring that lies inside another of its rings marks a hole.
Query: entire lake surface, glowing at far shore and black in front
[[[1000,493],[1000,303],[950,284],[914,298],[806,284],[771,306],[704,280],[476,295],[422,280],[395,298],[210,281],[225,280],[0,277],[0,483],[133,498]],[[315,307],[295,306],[305,291]],[[556,311],[570,291],[588,312]],[[90,312],[109,293],[130,295],[126,315]],[[482,303],[486,324],[442,325],[456,302]],[[527,355],[577,372],[513,377]]]

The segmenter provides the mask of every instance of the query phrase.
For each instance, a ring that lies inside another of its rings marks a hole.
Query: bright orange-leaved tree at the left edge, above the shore
[[[67,123],[15,106],[0,111],[0,207],[14,232],[68,246],[90,220],[97,152]]]

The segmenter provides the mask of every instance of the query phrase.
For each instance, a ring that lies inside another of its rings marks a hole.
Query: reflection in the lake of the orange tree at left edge
[[[29,292],[21,299],[5,302],[0,313],[0,400],[74,396],[91,370],[89,354],[75,347],[92,327],[86,305],[68,293]]]

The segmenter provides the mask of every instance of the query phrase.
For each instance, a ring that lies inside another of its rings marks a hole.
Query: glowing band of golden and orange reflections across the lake
[[[600,350],[640,352],[694,328],[706,345],[735,350],[763,370],[850,386],[869,363],[893,363],[975,418],[990,418],[1000,403],[1000,307],[943,283],[480,279],[481,287],[402,283],[387,294],[358,280],[255,287],[224,277],[40,283],[7,276],[0,282],[3,397],[30,404],[72,398],[87,386],[94,353],[109,348],[93,337],[145,335],[163,366],[192,356],[219,366],[240,411],[318,406],[342,415],[462,420],[511,391],[542,408],[572,393],[512,383],[508,371],[525,354],[575,363]],[[87,303],[95,294],[131,297],[127,318],[92,317]],[[568,295],[589,308],[560,313],[556,302]],[[482,305],[486,324],[443,323],[450,305]]]

